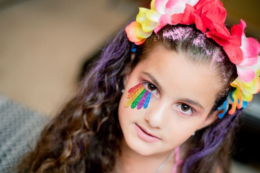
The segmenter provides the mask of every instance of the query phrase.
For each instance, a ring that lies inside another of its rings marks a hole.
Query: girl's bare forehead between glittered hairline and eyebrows
[[[206,105],[214,102],[222,87],[210,65],[198,65],[177,53],[151,53],[133,70],[133,75],[149,79],[147,73],[156,78],[167,95],[173,98],[200,97]]]

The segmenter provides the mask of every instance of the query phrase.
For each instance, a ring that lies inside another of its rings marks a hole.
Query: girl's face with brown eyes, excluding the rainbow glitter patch
[[[157,50],[136,65],[126,76],[118,109],[127,145],[141,155],[167,152],[212,123],[215,118],[210,117],[217,117],[217,113],[207,116],[221,87],[212,71],[181,54]],[[126,107],[128,90],[139,83],[152,94],[148,107]]]

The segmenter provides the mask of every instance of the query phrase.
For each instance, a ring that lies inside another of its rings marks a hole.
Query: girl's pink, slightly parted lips
[[[151,142],[151,143],[161,141],[159,137],[156,137],[156,135],[149,133],[145,128],[139,126],[136,123],[134,125],[134,129],[137,135],[144,141]]]

